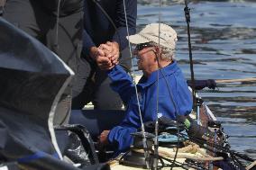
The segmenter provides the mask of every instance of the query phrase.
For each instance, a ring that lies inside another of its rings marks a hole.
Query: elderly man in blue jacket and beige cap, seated
[[[137,85],[140,106],[132,77],[119,65],[110,69],[108,76],[113,81],[112,87],[127,103],[127,110],[118,126],[104,130],[99,136],[102,145],[114,145],[117,152],[133,144],[131,133],[142,126],[139,107],[143,122],[155,121],[157,116],[176,120],[178,115],[187,115],[192,110],[187,82],[174,59],[176,31],[163,23],[151,23],[127,39],[136,45],[134,53],[138,56],[138,68],[143,72]]]

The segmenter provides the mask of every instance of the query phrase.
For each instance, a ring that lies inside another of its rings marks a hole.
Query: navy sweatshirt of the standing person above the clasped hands
[[[96,3],[110,16],[117,30]],[[107,40],[116,41],[121,50],[126,48],[128,41],[125,38],[127,31],[123,0],[100,0],[96,3],[94,0],[85,0],[83,52],[88,55],[91,47],[98,47]],[[125,0],[125,8],[129,33],[134,34],[136,32],[137,0]]]

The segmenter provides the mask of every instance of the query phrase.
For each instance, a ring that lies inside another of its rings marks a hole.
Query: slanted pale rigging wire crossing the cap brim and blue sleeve
[[[140,121],[142,123],[142,144],[143,144],[143,148],[144,148],[144,157],[145,157],[145,162],[146,162],[146,166],[148,169],[150,169],[150,165],[149,165],[149,153],[147,151],[147,139],[146,139],[146,135],[145,135],[145,127],[142,121],[142,111],[141,111],[141,104],[140,104],[140,100],[139,100],[139,94],[138,94],[138,89],[137,89],[137,85],[135,83],[135,76],[134,76],[134,65],[133,65],[133,55],[132,55],[132,47],[131,47],[131,43],[130,43],[130,33],[129,33],[129,26],[128,26],[128,21],[127,21],[127,13],[126,13],[126,6],[125,6],[125,0],[123,0],[123,11],[124,11],[124,17],[125,17],[125,24],[126,24],[126,31],[127,31],[127,38],[128,38],[128,46],[129,46],[129,52],[130,52],[130,58],[131,58],[131,63],[132,63],[132,76],[133,76],[133,84],[134,84],[134,88],[135,88],[135,93],[136,93],[136,98],[137,98],[137,104],[138,104],[138,110],[139,110],[139,116],[140,116]]]

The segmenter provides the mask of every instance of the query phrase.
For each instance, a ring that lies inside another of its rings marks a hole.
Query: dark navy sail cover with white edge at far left
[[[45,166],[63,162],[53,116],[73,75],[40,41],[0,18],[0,164],[66,169]],[[43,159],[47,161],[42,164]]]

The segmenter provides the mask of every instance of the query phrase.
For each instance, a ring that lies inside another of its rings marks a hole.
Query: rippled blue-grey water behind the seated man
[[[171,25],[178,32],[178,64],[190,79],[184,1],[161,2],[139,0],[137,31],[159,18]],[[256,77],[256,0],[194,0],[188,7],[196,79]],[[198,93],[222,122],[232,149],[255,160],[256,82],[217,84]]]

